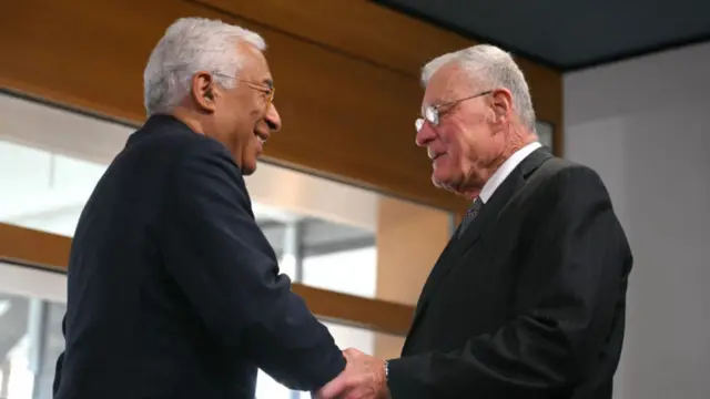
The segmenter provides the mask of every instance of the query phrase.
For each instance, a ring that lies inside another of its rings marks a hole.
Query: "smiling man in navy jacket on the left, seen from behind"
[[[182,19],[153,50],[150,117],[72,244],[55,399],[252,399],[257,367],[312,391],[343,371],[278,274],[242,177],[281,126],[264,48],[239,27]]]

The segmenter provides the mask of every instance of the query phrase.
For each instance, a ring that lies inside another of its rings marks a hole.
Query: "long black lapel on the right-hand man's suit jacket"
[[[462,256],[481,237],[484,237],[486,232],[490,231],[491,227],[495,226],[506,205],[515,194],[520,192],[525,186],[527,177],[550,157],[552,157],[552,155],[544,147],[532,152],[523,162],[520,162],[520,164],[518,164],[510,175],[506,177],[500,186],[498,186],[494,195],[484,205],[480,214],[474,219],[474,222],[471,222],[460,238],[458,238],[458,229],[460,228],[460,225],[458,226],[446,248],[444,248],[444,252],[434,265],[434,268],[424,285],[408,337],[413,335],[418,321],[422,319],[426,310],[429,299],[436,293],[439,284],[457,265]]]

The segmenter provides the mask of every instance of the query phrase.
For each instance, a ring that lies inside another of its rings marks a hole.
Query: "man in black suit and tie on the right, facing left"
[[[432,269],[402,357],[346,350],[331,398],[608,399],[632,257],[599,176],[535,134],[525,78],[476,45],[424,68],[418,145],[473,205]]]

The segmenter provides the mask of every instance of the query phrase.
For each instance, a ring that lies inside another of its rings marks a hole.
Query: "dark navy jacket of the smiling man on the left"
[[[314,390],[345,366],[227,150],[170,116],[129,139],[81,215],[64,335],[55,399],[251,399],[257,367]]]

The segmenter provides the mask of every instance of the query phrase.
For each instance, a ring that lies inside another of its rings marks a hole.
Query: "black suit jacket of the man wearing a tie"
[[[393,398],[611,398],[631,264],[599,176],[535,151],[434,266]]]

